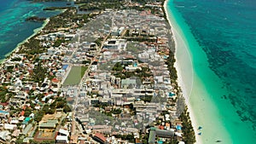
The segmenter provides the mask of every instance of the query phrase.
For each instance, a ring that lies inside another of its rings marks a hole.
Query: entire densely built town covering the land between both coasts
[[[1,66],[0,143],[142,143],[145,135],[148,143],[174,137],[182,143],[166,65],[172,36],[163,17],[108,10],[77,31],[36,39],[44,53],[17,51]],[[42,82],[32,79],[38,66],[45,70]],[[73,66],[88,68],[78,84],[66,84]],[[36,120],[43,110],[49,112]]]

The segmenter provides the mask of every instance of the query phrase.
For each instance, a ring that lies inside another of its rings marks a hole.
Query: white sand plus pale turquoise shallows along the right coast
[[[189,117],[195,131],[195,143],[213,143],[216,141],[233,143],[225,119],[236,116],[221,111],[222,109],[219,107],[224,106],[228,109],[232,107],[227,101],[218,100],[216,97],[216,95],[227,93],[215,87],[220,85],[220,81],[208,67],[207,55],[190,32],[189,26],[183,21],[182,15],[173,5],[168,5],[170,1],[172,2],[172,0],[165,1],[164,8],[167,20],[172,26],[176,49],[174,56],[176,58],[177,80],[183,90],[183,97],[186,99]],[[204,128],[198,130],[199,126]],[[199,132],[201,135],[198,135]]]

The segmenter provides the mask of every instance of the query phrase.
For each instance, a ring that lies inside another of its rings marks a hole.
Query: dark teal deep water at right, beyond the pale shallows
[[[207,54],[209,67],[228,89],[225,96],[240,123],[255,132],[256,1],[174,0],[174,4]]]

